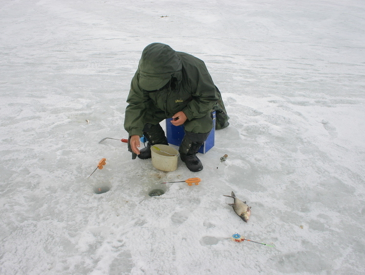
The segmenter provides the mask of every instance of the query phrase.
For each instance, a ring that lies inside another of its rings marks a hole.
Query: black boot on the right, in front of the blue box
[[[209,133],[195,134],[185,131],[185,136],[180,144],[179,153],[180,159],[185,162],[186,167],[192,172],[199,172],[203,170],[203,164],[196,157],[196,153],[208,138]]]

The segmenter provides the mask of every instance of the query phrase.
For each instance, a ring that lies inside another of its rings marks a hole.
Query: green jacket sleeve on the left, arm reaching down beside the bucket
[[[150,97],[147,92],[142,92],[138,85],[138,70],[132,78],[129,95],[127,98],[128,106],[124,118],[124,129],[130,136],[143,136],[144,116],[150,105]]]

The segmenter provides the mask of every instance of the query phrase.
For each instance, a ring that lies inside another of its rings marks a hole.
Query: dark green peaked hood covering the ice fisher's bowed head
[[[173,76],[180,80],[182,63],[170,46],[152,43],[142,51],[138,69],[141,88],[153,91],[164,87]]]

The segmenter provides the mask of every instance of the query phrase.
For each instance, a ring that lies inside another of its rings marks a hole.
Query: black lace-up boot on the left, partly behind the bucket
[[[167,138],[165,136],[165,132],[162,129],[160,124],[152,125],[150,123],[146,124],[143,128],[143,134],[147,138],[147,146],[141,150],[139,150],[138,158],[141,160],[147,160],[151,158],[151,146],[154,144],[165,144],[167,143]]]

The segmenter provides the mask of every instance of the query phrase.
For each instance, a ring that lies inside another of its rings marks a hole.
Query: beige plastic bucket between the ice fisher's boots
[[[179,152],[169,145],[156,144],[154,146],[156,146],[161,151],[151,146],[152,165],[162,171],[175,171],[177,168],[177,157]],[[162,151],[172,155],[166,154]]]

